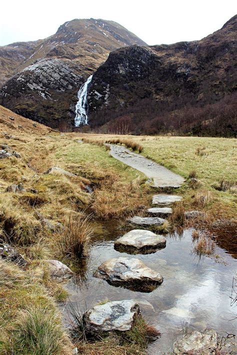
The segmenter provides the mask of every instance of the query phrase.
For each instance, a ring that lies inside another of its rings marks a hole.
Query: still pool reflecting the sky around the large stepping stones
[[[149,354],[171,351],[185,326],[189,330],[211,327],[221,335],[226,335],[225,331],[236,333],[236,320],[231,320],[236,316],[236,307],[230,305],[236,260],[224,249],[215,247],[219,262],[206,256],[197,258],[191,253],[191,229],[187,229],[182,235],[167,235],[164,249],[132,256],[114,250],[113,240],[124,233],[114,223],[96,223],[96,232],[86,265],[67,284],[70,300],[81,310],[105,298],[137,299],[144,318],[162,333],[149,345]],[[161,273],[163,283],[151,293],[143,293],[114,287],[92,276],[101,262],[119,256],[139,258]]]

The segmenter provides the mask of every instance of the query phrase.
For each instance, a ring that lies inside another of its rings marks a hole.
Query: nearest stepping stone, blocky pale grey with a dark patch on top
[[[83,314],[85,332],[93,334],[101,331],[130,330],[139,312],[140,308],[135,300],[126,299],[95,305]]]

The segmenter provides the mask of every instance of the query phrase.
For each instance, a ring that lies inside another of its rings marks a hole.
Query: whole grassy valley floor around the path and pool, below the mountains
[[[60,134],[0,107],[0,138],[1,149],[9,153],[0,159],[0,238],[27,261],[22,268],[0,259],[0,353],[69,354],[75,345],[58,312],[67,293],[50,279],[46,260],[58,259],[74,271],[77,262],[61,248],[63,232],[56,223],[66,225],[68,217],[83,219],[88,214],[92,219],[122,221],[135,212],[144,214],[154,189],[142,173],[112,158],[101,144],[116,136]],[[144,156],[186,179],[175,194],[183,196],[185,210],[206,213],[192,225],[211,228],[236,223],[234,139],[122,138],[138,141]],[[52,166],[74,175],[45,173]],[[21,184],[21,191],[8,188],[12,184]],[[100,345],[80,343],[84,353],[109,353],[112,346],[118,354],[145,351],[145,344],[120,345],[112,338]]]

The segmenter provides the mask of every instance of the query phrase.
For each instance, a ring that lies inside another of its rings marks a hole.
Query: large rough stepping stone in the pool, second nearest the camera
[[[122,286],[133,291],[151,292],[163,277],[136,258],[117,257],[103,262],[94,272],[113,286]]]

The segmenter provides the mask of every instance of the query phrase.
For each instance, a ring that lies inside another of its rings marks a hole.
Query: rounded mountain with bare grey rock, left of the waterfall
[[[110,51],[146,45],[120,24],[74,19],[37,41],[0,47],[0,103],[51,127],[71,127],[76,93]],[[12,76],[13,75],[13,76]]]

